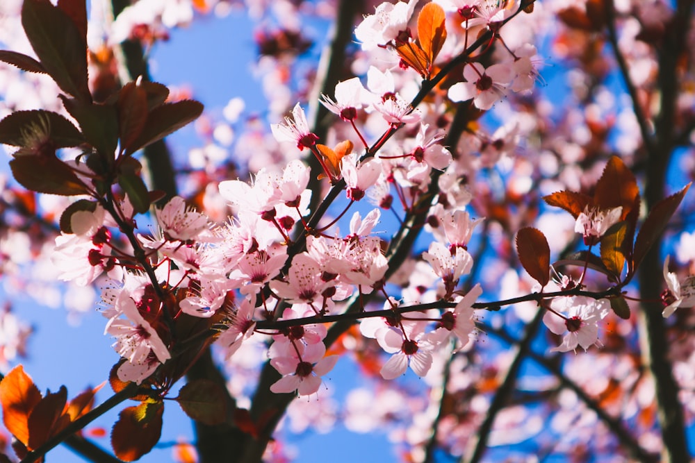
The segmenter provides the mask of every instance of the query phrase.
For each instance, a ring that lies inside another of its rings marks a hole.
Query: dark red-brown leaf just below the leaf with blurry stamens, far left
[[[27,190],[38,193],[74,196],[87,188],[65,162],[37,154],[21,155],[10,161],[15,180]]]

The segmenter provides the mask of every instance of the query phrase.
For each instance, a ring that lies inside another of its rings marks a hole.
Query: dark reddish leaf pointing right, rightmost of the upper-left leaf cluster
[[[150,143],[161,140],[172,132],[179,130],[195,120],[203,112],[203,105],[198,101],[183,100],[176,103],[165,103],[149,112],[147,123],[140,136],[126,151],[133,153]]]

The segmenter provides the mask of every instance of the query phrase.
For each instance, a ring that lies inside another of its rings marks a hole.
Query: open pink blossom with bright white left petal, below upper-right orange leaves
[[[449,88],[451,101],[473,99],[476,108],[489,110],[495,101],[505,96],[506,86],[512,81],[512,67],[506,64],[491,65],[487,69],[477,62],[464,68],[466,82],[455,83]]]

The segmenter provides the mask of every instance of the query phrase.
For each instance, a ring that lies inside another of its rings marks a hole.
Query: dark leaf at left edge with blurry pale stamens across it
[[[78,146],[85,142],[72,122],[57,112],[16,111],[0,121],[0,143],[28,147],[36,137],[51,140],[54,148]]]

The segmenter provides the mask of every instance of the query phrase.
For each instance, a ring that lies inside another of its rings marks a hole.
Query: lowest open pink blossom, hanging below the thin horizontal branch
[[[269,355],[274,354],[273,346]],[[270,391],[275,394],[297,391],[300,396],[310,396],[318,392],[321,376],[331,371],[338,362],[338,355],[324,357],[326,346],[322,342],[307,346],[297,343],[295,348],[283,347],[281,350],[284,355],[272,356],[270,360],[272,367],[283,375],[270,386]]]

